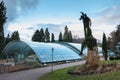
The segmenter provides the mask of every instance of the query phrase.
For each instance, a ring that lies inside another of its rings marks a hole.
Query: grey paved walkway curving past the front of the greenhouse
[[[56,65],[53,67],[54,70],[80,65],[85,63],[84,61],[74,62],[74,63],[67,63],[67,64],[61,64]],[[0,74],[0,80],[37,80],[40,76],[43,76],[47,73],[51,72],[51,67],[43,67],[43,68],[37,68],[37,69],[31,69],[31,70],[24,70],[24,71],[18,71],[13,73],[5,73]]]

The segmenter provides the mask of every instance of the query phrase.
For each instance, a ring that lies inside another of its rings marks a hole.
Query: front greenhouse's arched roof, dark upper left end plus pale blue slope
[[[36,54],[41,63],[46,63],[52,62],[52,48],[54,49],[54,62],[81,59],[79,54],[64,45],[43,42],[12,41],[4,48],[3,54],[15,54],[15,52],[18,54]]]

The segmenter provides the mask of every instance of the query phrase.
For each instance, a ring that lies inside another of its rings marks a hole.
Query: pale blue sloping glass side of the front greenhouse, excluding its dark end
[[[81,57],[73,50],[57,44],[57,43],[40,43],[40,42],[26,42],[39,57],[41,62],[52,62],[52,48],[53,61],[66,61],[81,59]]]

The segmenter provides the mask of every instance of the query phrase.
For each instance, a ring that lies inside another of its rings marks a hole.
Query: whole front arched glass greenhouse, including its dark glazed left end
[[[3,55],[16,62],[39,61],[40,63],[80,60],[79,50],[68,43],[44,43],[12,41],[3,50]]]

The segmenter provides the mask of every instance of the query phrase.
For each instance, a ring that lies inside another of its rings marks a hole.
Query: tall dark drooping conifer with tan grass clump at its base
[[[83,54],[82,53],[83,49],[87,47],[88,54],[86,56],[86,64],[91,65],[91,66],[98,66],[99,56],[98,56],[98,50],[97,50],[97,41],[92,36],[92,30],[90,28],[91,20],[83,12],[81,12],[81,14],[82,15],[79,20],[83,21],[85,40],[82,43],[80,54]]]

